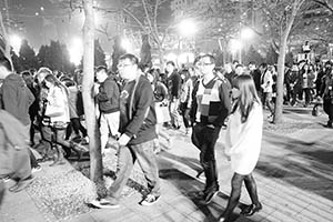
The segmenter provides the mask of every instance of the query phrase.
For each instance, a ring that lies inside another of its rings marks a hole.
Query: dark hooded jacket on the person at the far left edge
[[[0,108],[20,120],[23,125],[30,124],[29,108],[34,99],[19,74],[11,73],[4,78],[0,88]]]

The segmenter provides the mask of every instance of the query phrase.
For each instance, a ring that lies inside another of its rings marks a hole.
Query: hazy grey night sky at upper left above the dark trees
[[[6,18],[3,0],[0,2]],[[51,39],[70,44],[72,39],[82,36],[83,12],[60,8],[59,0],[8,0],[8,4],[9,17],[18,22],[11,32],[28,39],[37,52]],[[98,38],[108,51],[110,42],[101,36]]]

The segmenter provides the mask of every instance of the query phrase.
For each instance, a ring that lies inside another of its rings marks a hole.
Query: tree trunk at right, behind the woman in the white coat
[[[283,112],[283,81],[284,81],[284,63],[285,63],[285,52],[286,52],[286,39],[289,33],[284,32],[280,41],[280,50],[278,58],[278,80],[276,80],[276,102],[274,112],[274,123],[280,123],[282,121]]]

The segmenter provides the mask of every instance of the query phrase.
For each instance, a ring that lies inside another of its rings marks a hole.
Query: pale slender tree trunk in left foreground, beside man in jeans
[[[94,12],[93,0],[84,0],[84,27],[83,27],[83,105],[89,137],[90,149],[90,180],[97,184],[103,181],[103,165],[101,155],[101,141],[95,118],[95,107],[93,101],[93,79],[94,79]]]

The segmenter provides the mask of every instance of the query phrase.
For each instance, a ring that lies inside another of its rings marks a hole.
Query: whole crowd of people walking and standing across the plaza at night
[[[205,188],[195,196],[209,204],[219,192],[214,149],[221,129],[226,129],[225,158],[231,161],[234,175],[231,195],[220,221],[230,220],[243,181],[252,204],[242,214],[252,215],[262,209],[252,171],[261,150],[263,109],[269,110],[270,118],[274,115],[276,69],[266,63],[259,68],[254,62],[244,67],[234,61],[223,68],[216,68],[215,63],[211,54],[199,56],[192,65],[180,70],[173,61],[168,61],[163,73],[158,68],[139,64],[133,54],[123,54],[117,73],[105,67],[95,69],[92,91],[101,154],[105,155],[110,149],[110,139],[115,141],[118,172],[108,196],[92,201],[93,205],[119,206],[121,191],[135,161],[150,191],[141,204],[154,204],[161,195],[155,155],[172,147],[172,138],[163,128],[179,131],[183,125],[185,134],[191,133],[192,143],[200,150],[199,160],[205,176]],[[82,144],[89,143],[83,124],[81,84],[82,72],[69,75],[40,68],[18,74],[10,61],[1,58],[0,189],[4,179],[12,179],[17,183],[9,191],[21,191],[33,180],[33,172],[41,169],[39,161],[52,160],[51,167],[63,164],[70,155],[73,139],[79,138]],[[284,87],[286,105],[301,103],[307,107],[323,101],[329,115],[326,127],[332,128],[331,62],[320,67],[301,61],[286,67]],[[36,130],[41,135],[38,144]],[[161,140],[168,145],[160,145]],[[31,147],[39,148],[41,160],[36,160]],[[9,159],[7,152],[13,158]]]

